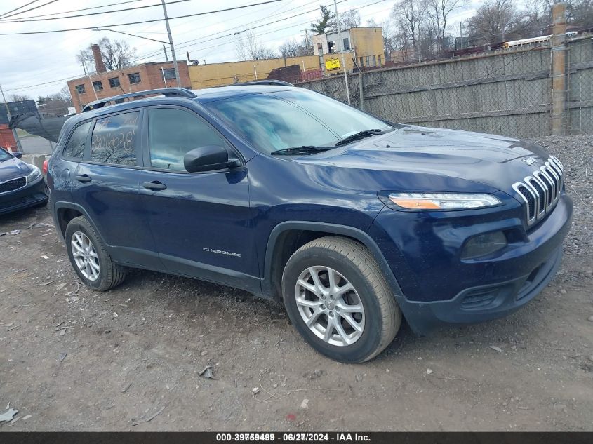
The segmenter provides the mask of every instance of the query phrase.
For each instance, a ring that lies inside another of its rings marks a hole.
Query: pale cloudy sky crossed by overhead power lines
[[[0,1],[0,15],[23,6],[29,1],[32,0]],[[50,4],[47,4],[48,1]],[[331,6],[333,11],[333,1],[331,0],[281,0],[234,11],[172,19],[180,15],[236,8],[266,0],[175,1],[166,0],[168,3],[167,13],[171,19],[169,23],[175,52],[178,61],[181,62],[186,60],[186,51],[189,51],[189,56],[192,59],[198,59],[200,63],[203,63],[204,60],[206,63],[237,60],[236,39],[240,39],[244,35],[240,33],[241,31],[250,27],[257,27],[253,32],[265,46],[277,50],[281,43],[287,40],[300,41],[304,38],[305,29],[308,29],[309,24],[319,18],[320,4]],[[380,24],[389,18],[394,3],[393,0],[338,0],[338,13],[354,8],[361,15],[361,26],[365,26],[367,20],[370,19],[374,19]],[[0,18],[0,34],[110,27],[116,31],[137,34],[149,39],[168,40],[164,20],[113,26],[128,22],[162,19],[164,17],[163,8],[159,0],[36,0],[19,11],[44,4],[47,5],[33,11],[22,12],[10,18]],[[472,0],[464,11],[459,11],[451,16],[451,32],[459,28],[459,21],[469,17],[477,4],[479,1]],[[140,8],[150,5],[155,6]],[[104,7],[94,8],[95,6]],[[67,13],[81,8],[93,9]],[[9,22],[34,16],[35,18],[59,18],[63,15],[114,10],[124,11],[79,18],[60,18],[59,20]],[[293,15],[296,16],[291,17]],[[234,35],[237,32],[239,34]],[[226,36],[227,34],[233,35]],[[6,99],[10,100],[8,97],[12,94],[36,98],[39,95],[58,93],[66,86],[67,79],[84,75],[82,65],[76,62],[76,54],[81,49],[88,48],[91,43],[96,43],[103,36],[107,36],[109,39],[125,40],[128,45],[135,48],[137,55],[135,63],[165,60],[162,43],[111,31],[85,29],[51,34],[0,35],[0,85],[4,89]],[[169,57],[171,58],[170,54]]]

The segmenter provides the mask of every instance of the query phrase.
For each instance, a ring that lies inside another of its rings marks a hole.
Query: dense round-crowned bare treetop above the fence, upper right
[[[486,0],[467,20],[467,28],[474,41],[505,41],[519,20],[519,11],[512,0]]]

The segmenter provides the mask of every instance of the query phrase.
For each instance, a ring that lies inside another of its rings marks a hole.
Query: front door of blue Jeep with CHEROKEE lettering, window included
[[[152,107],[145,119],[140,194],[169,271],[260,291],[245,167],[188,173],[185,153],[204,145],[234,148],[192,110]],[[239,155],[238,153],[236,153]]]

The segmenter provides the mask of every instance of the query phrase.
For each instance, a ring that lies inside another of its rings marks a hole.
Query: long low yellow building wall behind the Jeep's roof
[[[269,60],[247,60],[245,62],[210,63],[208,65],[190,65],[189,80],[192,89],[208,88],[210,86],[229,85],[230,83],[267,79],[269,72],[275,68],[290,65],[300,65],[300,69],[319,69],[317,55],[302,57],[287,57]]]

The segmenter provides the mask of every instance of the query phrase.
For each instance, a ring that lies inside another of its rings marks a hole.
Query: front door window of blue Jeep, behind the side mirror
[[[183,156],[204,145],[227,146],[214,128],[182,109],[157,108],[148,114],[148,146],[153,168],[185,171]]]

